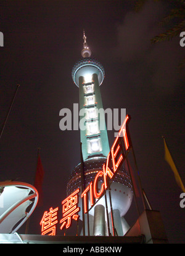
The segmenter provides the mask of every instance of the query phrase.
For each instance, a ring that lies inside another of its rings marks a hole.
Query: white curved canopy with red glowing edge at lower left
[[[38,192],[32,185],[24,182],[0,182],[0,233],[16,232],[33,213],[37,203]],[[30,210],[27,210],[31,204]]]

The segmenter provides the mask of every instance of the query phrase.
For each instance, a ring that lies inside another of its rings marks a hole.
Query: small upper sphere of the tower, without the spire
[[[99,61],[92,58],[83,58],[82,60],[75,63],[72,69],[72,79],[76,86],[79,87],[79,77],[92,76],[92,74],[97,74],[99,85],[101,86],[104,81],[105,71]]]

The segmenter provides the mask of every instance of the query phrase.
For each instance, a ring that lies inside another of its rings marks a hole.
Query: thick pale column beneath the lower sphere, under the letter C
[[[94,208],[93,236],[105,236],[105,208],[96,205]]]

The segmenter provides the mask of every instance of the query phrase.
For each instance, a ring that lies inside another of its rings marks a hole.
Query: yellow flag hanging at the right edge
[[[175,163],[173,162],[173,159],[171,157],[170,151],[169,151],[169,149],[167,147],[167,143],[165,141],[165,137],[163,137],[163,140],[164,140],[164,145],[165,145],[165,160],[168,162],[168,164],[170,165],[171,169],[173,170],[176,182],[178,183],[179,187],[183,190],[183,192],[185,192],[185,188],[184,188],[183,182],[181,180],[181,177],[179,176],[178,170],[176,169]]]

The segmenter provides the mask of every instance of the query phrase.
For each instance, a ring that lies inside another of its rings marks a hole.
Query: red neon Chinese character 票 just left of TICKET
[[[69,195],[65,200],[62,201],[62,219],[60,223],[62,223],[60,229],[63,229],[65,226],[66,229],[70,227],[72,219],[77,221],[78,219],[78,211],[80,208],[78,207],[78,192],[80,192],[80,188],[75,190],[71,195]]]

